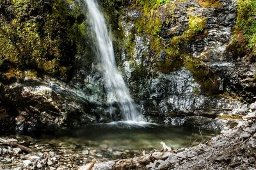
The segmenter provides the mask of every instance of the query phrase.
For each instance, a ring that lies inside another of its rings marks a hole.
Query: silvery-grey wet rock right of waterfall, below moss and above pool
[[[186,68],[168,75],[159,74],[147,82],[148,91],[140,96],[141,111],[154,120],[172,125],[198,125],[202,127],[223,127],[214,120],[222,114],[246,114],[248,105],[224,98],[206,97],[200,85]],[[183,117],[182,121],[177,117]],[[198,117],[197,117],[198,116]],[[177,121],[178,120],[178,121]],[[202,125],[200,125],[200,122]]]

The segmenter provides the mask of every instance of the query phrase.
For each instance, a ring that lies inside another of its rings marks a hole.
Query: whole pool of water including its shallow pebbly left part
[[[161,150],[162,141],[173,149],[193,146],[211,139],[218,132],[212,130],[170,127],[152,123],[114,122],[66,129],[54,135],[5,135],[32,149],[29,155],[45,155],[50,151],[60,155],[58,164],[81,166],[97,160],[113,160]],[[22,157],[27,157],[22,153]],[[22,158],[23,159],[23,158]],[[72,163],[70,163],[72,162]],[[8,166],[7,166],[8,167]]]

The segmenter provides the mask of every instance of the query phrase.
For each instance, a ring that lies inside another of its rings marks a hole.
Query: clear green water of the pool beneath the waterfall
[[[118,122],[66,130],[54,137],[41,137],[55,143],[81,144],[93,148],[152,150],[161,149],[161,141],[172,148],[182,148],[211,139],[216,134],[216,131],[198,128]]]

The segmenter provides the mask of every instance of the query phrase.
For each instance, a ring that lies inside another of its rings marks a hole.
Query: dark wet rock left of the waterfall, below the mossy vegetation
[[[45,79],[47,81],[30,79],[4,86],[1,101],[5,101],[4,109],[12,108],[13,114],[9,116],[13,121],[9,124],[15,124],[17,132],[54,132],[58,128],[109,121],[100,98],[103,92],[97,89],[97,84],[88,80],[87,86],[81,88],[49,77]]]

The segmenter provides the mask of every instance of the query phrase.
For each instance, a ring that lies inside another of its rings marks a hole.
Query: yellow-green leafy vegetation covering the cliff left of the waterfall
[[[0,3],[0,65],[3,72],[32,69],[67,77],[85,24],[71,0],[3,0]]]

